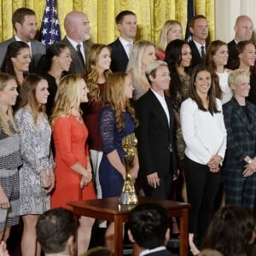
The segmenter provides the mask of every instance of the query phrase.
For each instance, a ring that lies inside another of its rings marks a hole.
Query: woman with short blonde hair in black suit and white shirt
[[[146,76],[151,88],[135,103],[139,119],[136,130],[138,178],[146,196],[169,199],[172,178],[177,176],[177,163],[172,102],[164,93],[171,80],[166,62],[151,61]]]

